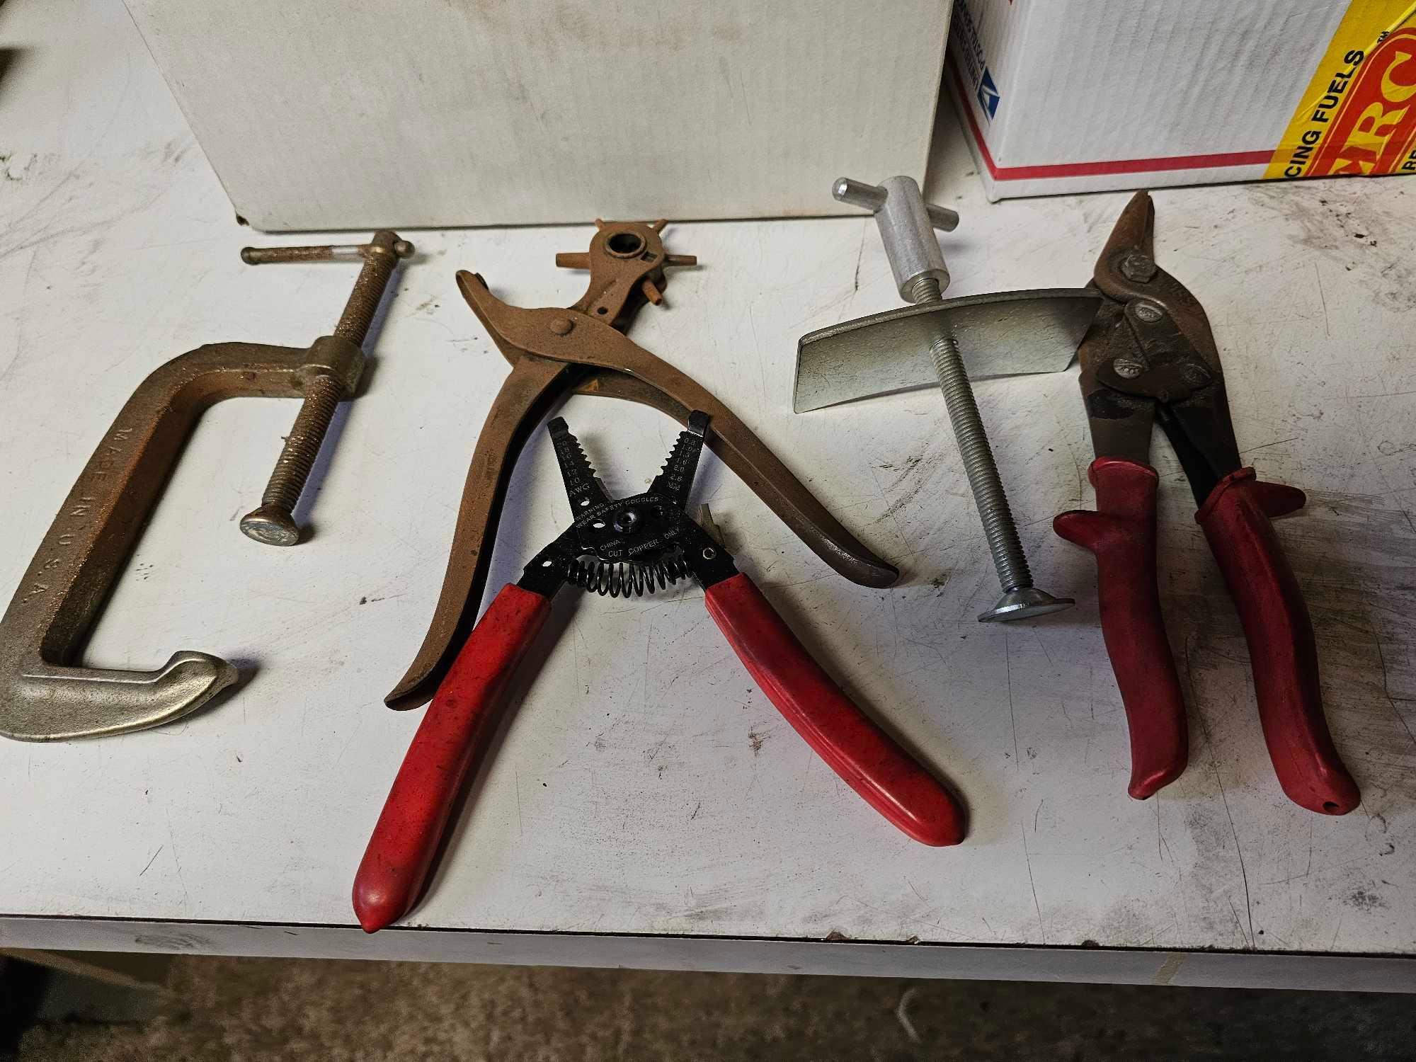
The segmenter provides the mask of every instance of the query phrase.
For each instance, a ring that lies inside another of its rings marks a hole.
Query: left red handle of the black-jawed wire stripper
[[[354,875],[354,913],[372,933],[418,899],[467,767],[491,738],[507,683],[551,599],[501,588],[423,714]]]

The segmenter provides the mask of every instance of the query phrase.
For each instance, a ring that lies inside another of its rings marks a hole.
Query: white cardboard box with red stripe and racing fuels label
[[[1416,173],[1412,0],[956,0],[988,198]]]

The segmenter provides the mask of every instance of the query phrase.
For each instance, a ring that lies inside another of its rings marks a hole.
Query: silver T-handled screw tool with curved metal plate
[[[1032,585],[969,378],[1061,372],[1100,296],[1061,287],[944,299],[949,268],[935,229],[952,231],[959,224],[954,211],[926,204],[912,177],[891,177],[879,187],[843,177],[833,194],[875,214],[895,285],[913,306],[803,336],[793,408],[800,413],[937,385],[1003,586],[978,619],[1027,619],[1070,606],[1070,599]]]

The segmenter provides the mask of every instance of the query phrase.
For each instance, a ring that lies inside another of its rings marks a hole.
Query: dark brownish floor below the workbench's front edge
[[[0,1058],[1416,1059],[1405,995],[205,957],[169,986],[144,1022],[41,1021]]]

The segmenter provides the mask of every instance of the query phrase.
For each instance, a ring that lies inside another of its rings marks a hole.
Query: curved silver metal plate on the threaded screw
[[[792,408],[804,413],[858,398],[937,387],[929,347],[942,329],[970,379],[1061,372],[1102,304],[1092,287],[1046,287],[946,299],[860,317],[797,343]]]

